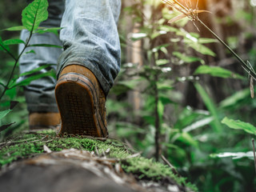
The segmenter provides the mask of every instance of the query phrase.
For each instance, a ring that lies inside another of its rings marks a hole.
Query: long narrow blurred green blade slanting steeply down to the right
[[[198,82],[195,82],[194,86],[198,90],[198,93],[200,94],[200,96],[202,97],[202,101],[206,105],[207,110],[210,111],[210,114],[214,118],[214,121],[212,123],[210,123],[210,125],[213,126],[214,131],[216,133],[221,133],[222,132],[222,125],[218,120],[217,107],[215,106],[214,102],[209,97],[209,95],[206,93],[206,90],[204,90],[203,87]]]

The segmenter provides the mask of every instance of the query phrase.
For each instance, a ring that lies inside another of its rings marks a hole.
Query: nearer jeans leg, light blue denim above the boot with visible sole
[[[108,94],[120,69],[120,9],[121,0],[66,0],[57,74],[68,65],[86,66]]]

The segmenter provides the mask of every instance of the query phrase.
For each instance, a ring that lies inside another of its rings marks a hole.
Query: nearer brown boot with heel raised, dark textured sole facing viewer
[[[55,97],[62,124],[58,134],[108,136],[106,97],[98,79],[84,66],[66,66],[58,78]]]

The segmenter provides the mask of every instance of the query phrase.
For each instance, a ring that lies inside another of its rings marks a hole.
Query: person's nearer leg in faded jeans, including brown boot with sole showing
[[[66,0],[55,90],[60,133],[106,137],[105,101],[120,69],[121,0]]]

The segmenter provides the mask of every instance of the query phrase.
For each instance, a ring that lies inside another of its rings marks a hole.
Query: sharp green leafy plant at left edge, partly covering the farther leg
[[[1,78],[1,82],[0,82],[1,106],[6,106],[6,103],[9,103],[10,105],[9,109],[7,110],[1,109],[0,111],[0,122],[1,122],[0,132],[3,130],[6,130],[8,127],[14,124],[14,122],[6,124],[2,120],[3,118],[6,117],[7,114],[9,114],[14,109],[14,106],[18,104],[18,102],[13,101],[15,97],[15,90],[18,86],[26,86],[31,81],[34,81],[38,78],[43,78],[46,76],[55,77],[55,72],[53,70],[50,70],[43,74],[37,73],[39,70],[45,69],[50,65],[40,66],[38,67],[38,69],[31,70],[24,74],[14,75],[14,71],[18,66],[18,61],[23,54],[36,54],[33,50],[26,52],[27,47],[54,46],[54,45],[44,45],[44,44],[33,44],[33,45],[30,44],[30,39],[35,33],[43,34],[43,33],[52,32],[52,33],[58,34],[58,28],[45,28],[45,27],[39,26],[41,22],[45,21],[48,18],[47,7],[48,7],[47,0],[34,0],[34,2],[31,2],[22,11],[22,26],[12,26],[10,28],[5,29],[7,31],[29,30],[30,34],[29,34],[29,37],[26,39],[26,42],[22,41],[22,39],[19,39],[19,38],[11,38],[11,39],[3,40],[2,37],[0,37],[0,50],[8,54],[10,58],[13,60],[12,70],[10,71],[9,78],[7,78],[6,80]],[[23,44],[24,48],[21,50],[20,54],[17,55],[16,53],[11,52],[10,46],[17,46],[18,44]],[[54,46],[54,47],[58,47],[58,46]],[[18,78],[20,77],[26,77],[26,78],[24,78],[24,80],[22,81],[18,81]]]

